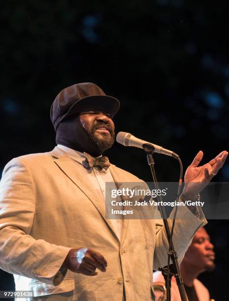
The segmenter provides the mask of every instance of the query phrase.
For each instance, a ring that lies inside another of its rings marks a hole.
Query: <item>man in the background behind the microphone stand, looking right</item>
[[[198,229],[194,239],[180,264],[185,291],[189,301],[209,301],[208,289],[197,279],[204,271],[215,269],[214,245],[205,228]],[[154,291],[156,301],[163,301],[166,296],[164,277],[160,271],[154,272]],[[175,277],[171,281],[171,301],[181,301]],[[211,299],[211,301],[213,301]]]

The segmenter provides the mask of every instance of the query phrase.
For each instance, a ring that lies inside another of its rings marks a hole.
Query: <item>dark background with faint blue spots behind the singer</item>
[[[0,170],[13,157],[50,151],[49,110],[58,92],[93,82],[120,99],[122,130],[206,163],[228,150],[228,1],[3,1],[0,9]],[[145,181],[143,151],[115,144],[110,161]],[[176,160],[155,155],[159,181],[178,181]],[[214,181],[229,181],[229,161]],[[207,231],[217,268],[202,274],[211,297],[229,300],[228,220]],[[13,289],[0,271],[0,289]]]

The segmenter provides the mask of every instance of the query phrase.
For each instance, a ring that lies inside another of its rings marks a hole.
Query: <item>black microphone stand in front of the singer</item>
[[[154,158],[153,158],[154,147],[150,144],[144,144],[143,149],[147,153],[147,161],[148,161],[148,164],[150,166],[150,170],[151,170],[151,173],[152,173],[152,176],[153,176],[153,181],[155,183],[155,188],[160,189],[159,184],[158,184],[158,180],[157,180],[157,176],[156,176],[156,172],[155,172],[155,168],[154,168],[154,163],[155,163]],[[158,197],[160,199],[160,202],[163,202],[162,196],[160,195]],[[159,210],[160,210],[161,216],[163,218],[163,223],[164,223],[166,236],[167,236],[167,239],[169,241],[169,249],[168,249],[168,252],[167,252],[167,254],[168,254],[168,263],[169,263],[170,259],[172,261],[172,265],[166,266],[164,268],[161,268],[161,267],[159,268],[159,271],[162,271],[162,274],[163,274],[164,280],[165,280],[166,301],[171,301],[171,278],[172,278],[173,275],[176,278],[176,282],[177,282],[178,289],[179,289],[179,292],[180,292],[181,300],[182,301],[187,301],[184,282],[183,282],[183,279],[182,279],[182,276],[181,276],[181,273],[180,273],[180,269],[179,269],[177,252],[174,249],[174,245],[173,245],[173,242],[172,242],[172,235],[171,235],[170,230],[169,230],[168,221],[166,219],[166,213],[164,211],[164,207],[159,205]],[[170,267],[171,267],[172,272],[170,272]]]

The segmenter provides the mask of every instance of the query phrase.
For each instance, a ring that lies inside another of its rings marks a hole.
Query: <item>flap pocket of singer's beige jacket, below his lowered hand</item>
[[[75,288],[74,278],[65,278],[59,285],[54,286],[43,282],[36,282],[30,285],[33,297],[40,297],[52,294],[61,294],[73,291]]]

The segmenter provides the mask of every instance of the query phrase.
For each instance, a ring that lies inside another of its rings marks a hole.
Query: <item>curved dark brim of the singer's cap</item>
[[[70,107],[65,117],[84,111],[101,111],[109,113],[110,117],[113,118],[118,112],[119,107],[120,102],[115,97],[108,95],[90,95],[76,101]]]

